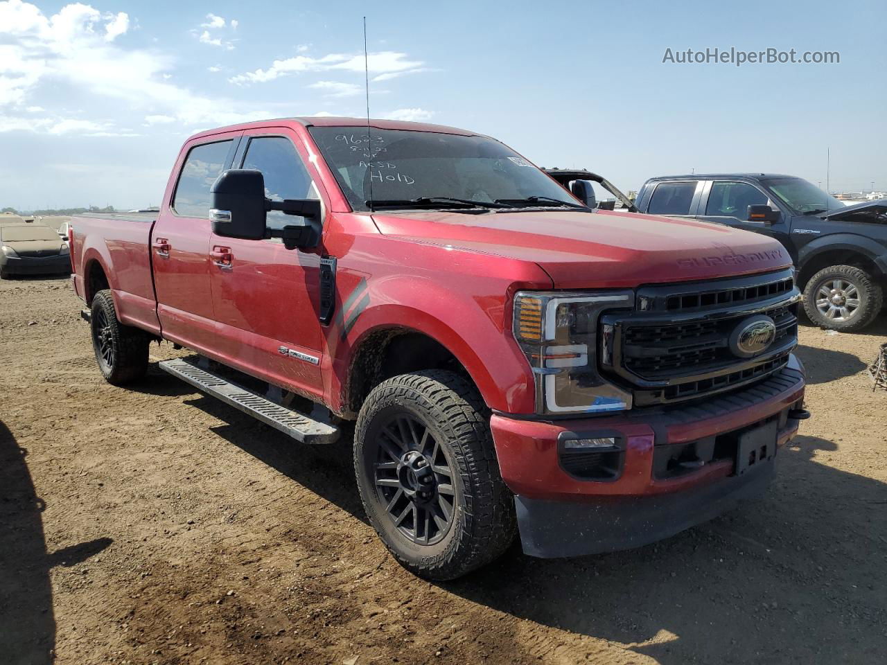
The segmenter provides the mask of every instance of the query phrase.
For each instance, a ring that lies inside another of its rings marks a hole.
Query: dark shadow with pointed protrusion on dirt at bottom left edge
[[[51,568],[80,563],[112,541],[99,538],[47,553],[45,505],[36,496],[26,459],[27,450],[0,421],[0,661],[49,665],[56,634]]]

